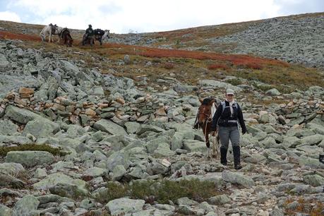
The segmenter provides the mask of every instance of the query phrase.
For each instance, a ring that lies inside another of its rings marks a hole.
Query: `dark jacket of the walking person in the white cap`
[[[231,116],[231,110],[229,108],[229,102],[225,100],[225,109],[223,112],[222,103],[217,107],[214,117],[212,118],[212,131],[216,131],[217,124],[223,127],[234,127],[237,126],[237,122],[229,122],[230,121],[239,121],[239,124],[242,128],[242,133],[246,132],[246,126],[244,124],[243,113],[239,104],[237,104],[237,109],[235,104],[233,107],[233,115]]]

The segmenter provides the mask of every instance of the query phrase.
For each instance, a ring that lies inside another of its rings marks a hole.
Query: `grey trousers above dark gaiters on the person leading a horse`
[[[229,140],[232,146],[239,146],[239,128],[234,127],[219,127],[218,136],[220,136],[220,143],[223,148],[229,148]]]

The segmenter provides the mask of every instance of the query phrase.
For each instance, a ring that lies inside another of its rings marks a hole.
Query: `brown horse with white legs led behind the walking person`
[[[198,128],[203,129],[203,134],[205,136],[206,146],[208,148],[208,157],[210,156],[210,140],[212,141],[212,155],[217,157],[220,155],[219,151],[219,136],[217,133],[213,136],[211,131],[212,126],[212,116],[216,112],[215,99],[205,98],[204,100],[199,98],[200,107],[198,108],[198,114],[196,118],[196,125]]]

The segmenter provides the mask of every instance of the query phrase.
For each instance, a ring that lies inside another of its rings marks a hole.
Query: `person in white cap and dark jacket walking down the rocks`
[[[234,168],[241,169],[241,150],[239,146],[239,125],[242,133],[246,133],[243,114],[239,104],[234,101],[234,90],[227,89],[226,99],[217,107],[216,113],[212,118],[212,131],[218,126],[218,136],[220,136],[220,162],[227,165],[227,149],[231,140],[234,156]]]

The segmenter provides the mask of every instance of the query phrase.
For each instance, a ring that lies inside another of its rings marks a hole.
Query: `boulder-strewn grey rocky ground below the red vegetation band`
[[[0,41],[0,215],[323,215],[322,86],[281,94],[168,73],[159,88],[24,44]],[[59,49],[119,70],[137,64]],[[227,167],[205,157],[192,127],[196,92],[222,100],[228,87],[248,124],[239,171],[232,153]],[[177,196],[180,184],[196,191]]]

